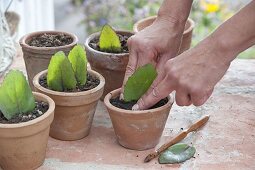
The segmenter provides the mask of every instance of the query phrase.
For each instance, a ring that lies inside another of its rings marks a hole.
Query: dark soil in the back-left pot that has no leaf
[[[73,39],[71,36],[66,34],[41,34],[33,37],[31,41],[28,42],[30,46],[34,47],[59,47],[71,44]]]

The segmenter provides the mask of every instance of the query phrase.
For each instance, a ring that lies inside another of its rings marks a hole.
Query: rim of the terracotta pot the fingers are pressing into
[[[114,93],[120,93],[120,90],[121,88],[119,89],[115,89],[113,91],[111,91],[110,93],[108,93],[105,98],[104,98],[104,103],[106,105],[106,107],[112,109],[112,110],[116,110],[117,112],[120,112],[120,113],[124,113],[124,114],[127,114],[127,115],[141,115],[141,114],[148,114],[149,112],[157,112],[159,110],[164,110],[166,109],[167,107],[171,107],[172,104],[174,103],[174,98],[173,98],[173,95],[172,94],[169,94],[168,96],[168,102],[163,105],[163,106],[160,106],[160,107],[157,107],[155,109],[149,109],[149,110],[139,110],[139,111],[133,111],[133,110],[125,110],[125,109],[121,109],[121,108],[118,108],[116,106],[113,106],[111,103],[110,103],[110,99],[112,98],[112,95]]]

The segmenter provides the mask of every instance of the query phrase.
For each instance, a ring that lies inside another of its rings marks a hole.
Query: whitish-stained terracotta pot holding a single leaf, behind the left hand
[[[118,34],[131,36],[129,31],[116,31]],[[101,99],[110,91],[120,88],[123,83],[125,71],[128,63],[129,53],[106,53],[97,51],[89,46],[91,40],[100,36],[100,32],[90,35],[85,42],[85,49],[88,61],[93,70],[102,74],[105,78],[105,89]]]

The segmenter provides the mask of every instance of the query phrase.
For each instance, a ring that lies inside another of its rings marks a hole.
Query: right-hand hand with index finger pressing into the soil
[[[179,106],[204,104],[230,65],[230,61],[225,60],[230,58],[226,56],[229,54],[221,50],[217,43],[208,38],[168,60],[155,80],[159,83],[138,100],[133,110],[147,109],[174,90]]]

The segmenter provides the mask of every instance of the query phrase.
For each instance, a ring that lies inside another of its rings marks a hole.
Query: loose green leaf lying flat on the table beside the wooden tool
[[[196,149],[185,143],[178,143],[169,147],[165,152],[159,155],[159,163],[174,164],[184,162],[194,156]]]

